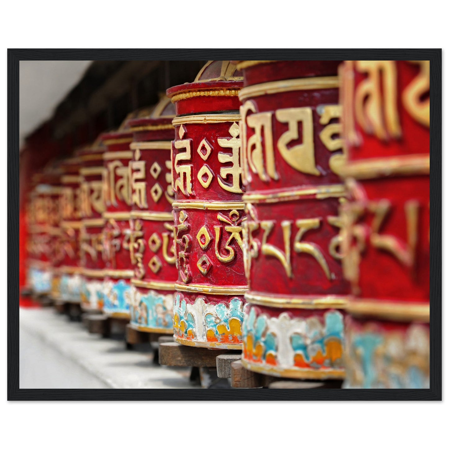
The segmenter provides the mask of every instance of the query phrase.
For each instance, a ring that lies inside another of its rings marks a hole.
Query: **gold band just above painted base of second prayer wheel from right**
[[[327,295],[327,296],[281,296],[264,295],[259,292],[245,293],[245,299],[248,303],[267,307],[278,308],[303,308],[303,309],[326,309],[326,308],[346,308],[348,305],[348,296]]]

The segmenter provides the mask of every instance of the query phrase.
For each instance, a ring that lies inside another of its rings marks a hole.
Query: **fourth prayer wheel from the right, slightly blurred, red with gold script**
[[[178,271],[173,247],[171,158],[175,108],[167,97],[147,116],[129,121],[132,212],[126,245],[134,268],[130,325],[173,333]]]

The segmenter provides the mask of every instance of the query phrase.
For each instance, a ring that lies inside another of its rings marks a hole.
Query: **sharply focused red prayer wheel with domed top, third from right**
[[[173,330],[189,346],[239,349],[244,292],[243,186],[238,92],[229,61],[210,61],[195,81],[167,90],[173,120],[176,282]]]

